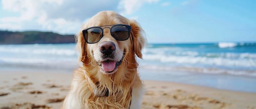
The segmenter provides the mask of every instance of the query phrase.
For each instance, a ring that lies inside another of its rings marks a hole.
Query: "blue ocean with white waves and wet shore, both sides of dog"
[[[0,73],[72,73],[78,68],[75,44],[0,45]],[[256,92],[256,43],[148,44],[142,79]]]

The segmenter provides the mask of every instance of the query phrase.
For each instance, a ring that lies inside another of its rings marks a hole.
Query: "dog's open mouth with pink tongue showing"
[[[106,74],[112,74],[117,71],[119,65],[121,65],[123,58],[119,61],[114,61],[111,59],[106,59],[105,61],[97,62],[100,66],[101,71],[105,72]]]

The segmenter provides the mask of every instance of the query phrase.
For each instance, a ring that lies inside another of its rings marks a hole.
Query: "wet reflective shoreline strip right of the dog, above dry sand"
[[[139,69],[143,80],[166,81],[197,85],[236,92],[256,93],[256,77],[231,74],[207,74],[200,72],[181,72]]]

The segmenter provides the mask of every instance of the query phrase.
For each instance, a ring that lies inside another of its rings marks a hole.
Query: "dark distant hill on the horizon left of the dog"
[[[59,35],[52,32],[0,31],[0,44],[62,44],[75,43],[74,35]]]

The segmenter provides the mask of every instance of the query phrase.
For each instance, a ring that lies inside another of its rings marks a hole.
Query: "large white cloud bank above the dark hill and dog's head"
[[[0,29],[75,34],[83,23],[99,11],[112,10],[129,15],[143,4],[157,1],[159,0],[2,0],[2,10],[18,13],[18,16],[0,17]]]

